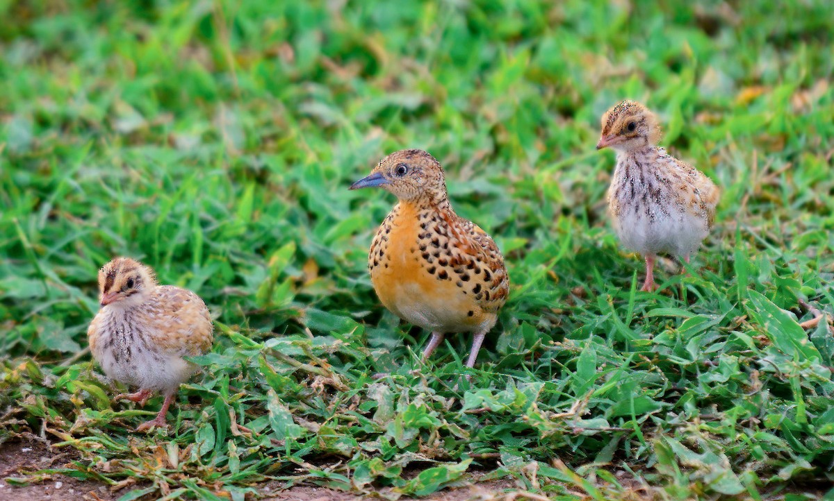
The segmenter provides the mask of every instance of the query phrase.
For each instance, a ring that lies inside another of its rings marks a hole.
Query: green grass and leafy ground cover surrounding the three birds
[[[96,3],[0,1],[0,442],[79,454],[26,481],[123,499],[265,479],[424,495],[475,470],[555,499],[636,495],[615,471],[656,499],[831,488],[834,340],[797,323],[800,300],[834,305],[831,2]],[[614,159],[594,145],[625,97],[723,189],[661,294],[635,290],[605,217]],[[466,335],[421,367],[428,334],[370,287],[394,201],[347,187],[404,147],[446,166],[506,256],[475,370]],[[161,399],[111,403],[84,351],[114,255],[217,320],[167,432],[133,434]]]

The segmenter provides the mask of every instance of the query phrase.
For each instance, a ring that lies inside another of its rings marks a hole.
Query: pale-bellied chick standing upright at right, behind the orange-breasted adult
[[[657,289],[656,256],[689,263],[711,230],[720,191],[704,173],[657,146],[661,126],[641,103],[620,102],[600,122],[596,149],[612,148],[617,160],[608,212],[620,241],[646,259],[641,290],[651,292]]]

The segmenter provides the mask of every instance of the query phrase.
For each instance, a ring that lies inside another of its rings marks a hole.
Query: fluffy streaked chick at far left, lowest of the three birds
[[[144,406],[153,392],[165,400],[138,432],[164,428],[168,406],[196,370],[185,356],[203,355],[214,342],[208,307],[190,290],[157,285],[153,270],[117,257],[98,270],[101,309],[87,330],[93,358],[110,379],[138,388],[119,394]]]

